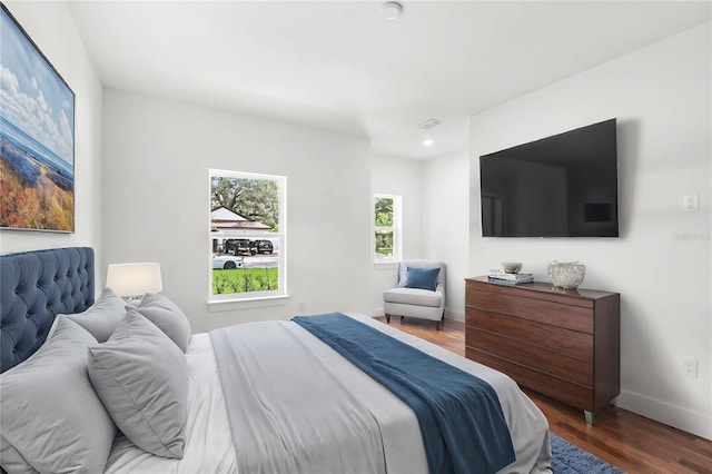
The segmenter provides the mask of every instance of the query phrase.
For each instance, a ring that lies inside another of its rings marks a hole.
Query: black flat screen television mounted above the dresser
[[[617,237],[615,119],[479,157],[483,237]]]

